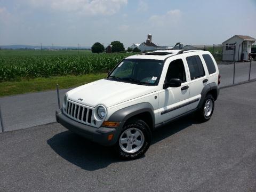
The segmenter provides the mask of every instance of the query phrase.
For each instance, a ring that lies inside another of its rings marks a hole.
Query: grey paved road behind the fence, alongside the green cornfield
[[[236,63],[235,83],[248,80],[249,66],[249,62]],[[227,86],[233,83],[233,68],[233,65],[219,65],[221,74],[220,86]],[[252,62],[251,74],[251,79],[256,78],[256,61]],[[61,100],[68,90],[60,90]],[[57,103],[56,91],[0,98],[5,131],[25,129],[55,122]]]

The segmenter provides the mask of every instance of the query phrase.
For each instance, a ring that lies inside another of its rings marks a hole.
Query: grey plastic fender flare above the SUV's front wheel
[[[144,112],[148,112],[151,115],[152,122],[153,122],[152,127],[154,127],[155,126],[154,108],[148,102],[142,102],[129,107],[125,107],[123,109],[119,109],[109,117],[108,121],[125,122],[130,117],[144,113]]]

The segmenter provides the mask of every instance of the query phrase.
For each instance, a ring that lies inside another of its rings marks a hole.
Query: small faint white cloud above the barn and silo
[[[151,25],[153,26],[164,26],[177,23],[181,18],[180,10],[170,10],[164,15],[153,15],[149,18]]]

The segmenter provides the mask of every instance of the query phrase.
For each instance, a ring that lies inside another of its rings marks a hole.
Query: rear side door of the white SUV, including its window
[[[197,107],[201,99],[201,92],[209,79],[201,55],[192,52],[185,54],[184,57],[189,69],[190,94],[188,111],[190,111]]]

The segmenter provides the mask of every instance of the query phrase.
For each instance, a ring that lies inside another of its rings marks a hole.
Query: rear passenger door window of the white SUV
[[[187,57],[186,60],[188,63],[191,80],[203,77],[205,75],[203,63],[198,55]]]

